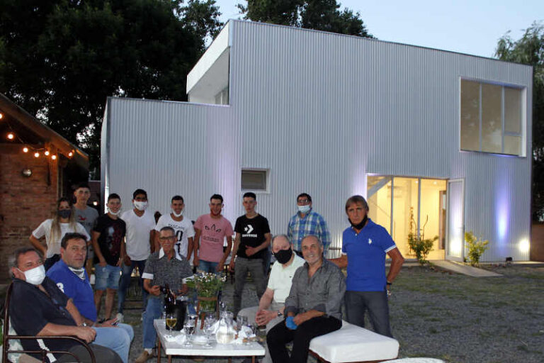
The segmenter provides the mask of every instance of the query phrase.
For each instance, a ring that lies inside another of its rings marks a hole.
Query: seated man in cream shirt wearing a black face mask
[[[251,322],[266,325],[266,333],[274,325],[283,321],[285,299],[289,296],[291,281],[295,271],[305,264],[305,260],[293,252],[293,245],[289,243],[287,235],[274,236],[271,246],[276,262],[272,265],[268,286],[259,301],[259,306],[244,308],[238,313],[238,315],[247,316]],[[265,362],[272,362],[268,347],[261,363]]]

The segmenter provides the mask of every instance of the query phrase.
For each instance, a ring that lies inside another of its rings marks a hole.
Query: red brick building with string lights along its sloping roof
[[[60,196],[89,178],[89,157],[0,94],[0,281],[16,247],[52,218]]]

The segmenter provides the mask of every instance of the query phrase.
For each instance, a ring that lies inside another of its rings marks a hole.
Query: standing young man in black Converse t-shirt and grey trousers
[[[268,257],[268,245],[271,240],[268,220],[255,211],[256,195],[251,192],[244,194],[243,203],[246,214],[238,217],[234,225],[236,237],[229,264],[229,269],[234,270],[234,316],[240,310],[247,272],[251,272],[257,298],[261,300],[264,294],[266,289],[264,259]]]

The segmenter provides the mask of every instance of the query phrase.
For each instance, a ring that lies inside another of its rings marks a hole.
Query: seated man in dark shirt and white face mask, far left
[[[81,262],[82,263],[82,262]],[[51,335],[70,335],[91,343],[96,330],[85,326],[71,298],[45,277],[45,268],[38,251],[31,247],[19,248],[10,258],[13,289],[9,313],[13,329],[18,335],[37,335],[40,340],[21,340],[25,350],[67,350],[79,357],[81,362],[91,362],[86,349],[72,340],[47,340]],[[96,362],[122,363],[118,354],[101,345],[91,344]],[[41,358],[40,354],[31,354]],[[45,362],[73,362],[69,354],[45,356]]]

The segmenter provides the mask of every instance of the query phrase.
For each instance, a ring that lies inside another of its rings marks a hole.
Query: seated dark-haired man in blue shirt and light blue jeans
[[[116,319],[96,322],[94,293],[84,268],[86,242],[79,233],[67,233],[60,242],[61,259],[47,270],[47,277],[57,283],[59,289],[69,298],[83,318],[84,326],[96,330],[95,344],[111,348],[123,363],[128,362],[130,342],[134,331],[128,324],[118,324]]]

